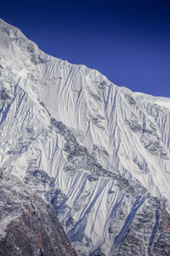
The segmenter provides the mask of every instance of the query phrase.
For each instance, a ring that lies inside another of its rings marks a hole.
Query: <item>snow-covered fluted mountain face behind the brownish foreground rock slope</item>
[[[3,20],[0,84],[0,166],[51,202],[77,254],[168,255],[170,99],[49,56]]]

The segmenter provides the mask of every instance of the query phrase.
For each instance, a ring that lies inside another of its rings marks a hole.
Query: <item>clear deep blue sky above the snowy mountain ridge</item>
[[[49,55],[170,97],[169,0],[3,1],[0,17]]]

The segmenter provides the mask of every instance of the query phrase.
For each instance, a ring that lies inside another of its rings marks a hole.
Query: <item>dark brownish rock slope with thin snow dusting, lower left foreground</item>
[[[0,205],[0,255],[77,255],[54,209],[31,194],[25,183],[1,172],[0,192],[3,199]],[[8,219],[6,228],[5,219]]]

